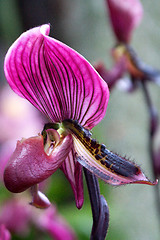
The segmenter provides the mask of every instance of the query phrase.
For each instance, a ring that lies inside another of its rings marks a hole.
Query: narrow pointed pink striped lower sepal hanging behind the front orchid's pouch
[[[79,162],[77,162],[75,158],[74,149],[71,149],[69,155],[62,163],[60,169],[63,171],[69,183],[71,184],[75,196],[76,206],[78,209],[80,209],[83,206],[84,201],[83,176],[82,166],[79,164]]]

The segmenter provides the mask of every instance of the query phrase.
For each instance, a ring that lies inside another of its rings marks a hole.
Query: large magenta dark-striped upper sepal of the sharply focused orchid
[[[49,36],[42,25],[23,33],[6,54],[11,88],[53,122],[75,119],[88,128],[105,115],[107,84],[75,50]]]

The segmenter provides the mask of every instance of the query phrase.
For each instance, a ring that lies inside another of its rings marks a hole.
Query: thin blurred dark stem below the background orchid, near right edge
[[[145,97],[145,102],[148,108],[148,112],[149,112],[149,118],[150,118],[150,133],[149,133],[149,153],[150,153],[150,159],[152,162],[152,168],[153,168],[153,174],[154,177],[157,178],[157,174],[154,168],[154,136],[155,133],[157,131],[157,127],[158,127],[158,114],[157,114],[157,110],[154,107],[152,100],[151,100],[151,96],[149,94],[148,88],[147,88],[147,83],[146,81],[142,81],[142,89],[143,89],[143,93],[144,93],[144,97]],[[159,218],[159,222],[160,222],[160,193],[159,193],[159,186],[158,184],[155,186],[155,196],[156,196],[156,205],[157,205],[157,213],[158,213],[158,218]]]

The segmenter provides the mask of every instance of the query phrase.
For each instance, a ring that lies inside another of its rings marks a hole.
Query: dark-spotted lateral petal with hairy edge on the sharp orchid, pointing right
[[[77,161],[111,185],[123,185],[128,183],[141,183],[155,185],[150,182],[141,169],[132,163],[107,150],[94,140],[84,144],[73,136],[74,148],[77,153]],[[95,145],[95,147],[93,147]]]

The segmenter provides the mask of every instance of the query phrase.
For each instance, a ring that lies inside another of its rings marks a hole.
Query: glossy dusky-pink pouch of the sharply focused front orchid
[[[18,141],[4,171],[7,189],[23,192],[51,176],[65,160],[71,146],[72,137],[68,135],[48,156],[44,152],[42,135]]]

